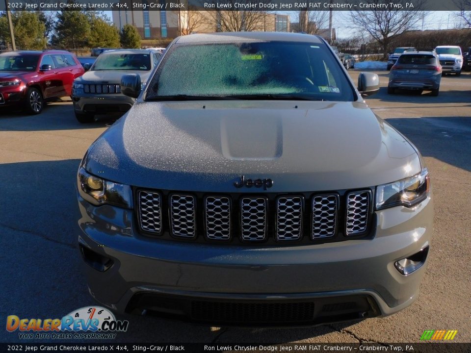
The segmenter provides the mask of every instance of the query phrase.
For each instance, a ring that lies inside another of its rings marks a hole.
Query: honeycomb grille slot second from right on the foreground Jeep
[[[311,239],[333,237],[337,234],[338,210],[338,195],[313,197]]]

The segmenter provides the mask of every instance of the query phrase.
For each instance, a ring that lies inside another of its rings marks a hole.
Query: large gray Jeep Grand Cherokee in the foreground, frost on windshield
[[[296,60],[292,60],[296,58]],[[320,37],[175,39],[78,170],[90,294],[119,312],[289,326],[416,300],[432,233],[419,151]]]

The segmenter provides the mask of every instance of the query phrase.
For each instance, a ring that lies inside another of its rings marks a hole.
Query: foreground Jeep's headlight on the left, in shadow
[[[132,192],[129,185],[93,176],[83,167],[78,169],[77,186],[80,196],[94,205],[108,203],[119,207],[132,207]]]

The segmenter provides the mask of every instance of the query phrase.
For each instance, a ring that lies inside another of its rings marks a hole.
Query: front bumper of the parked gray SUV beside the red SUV
[[[121,93],[95,94],[74,90],[72,101],[76,113],[125,113],[131,109],[135,100]]]

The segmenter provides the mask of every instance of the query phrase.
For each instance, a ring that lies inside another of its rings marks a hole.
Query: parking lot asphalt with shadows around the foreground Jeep
[[[431,97],[388,95],[388,72],[376,73],[382,88],[368,105],[419,148],[431,174],[435,231],[419,299],[387,318],[314,328],[210,328],[119,316],[130,325],[118,342],[406,343],[419,342],[425,329],[456,329],[455,342],[471,342],[471,75],[444,76],[440,95]],[[349,74],[356,82],[359,71]],[[88,146],[113,119],[81,125],[68,99],[39,116],[0,114],[0,325],[7,315],[61,318],[94,304],[76,246],[75,179]],[[5,329],[0,341],[21,342]]]

